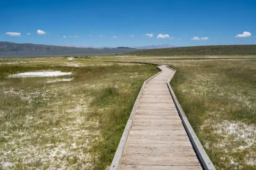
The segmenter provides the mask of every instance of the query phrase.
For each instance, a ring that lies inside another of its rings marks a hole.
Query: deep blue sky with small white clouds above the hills
[[[13,0],[0,5],[0,41],[195,46],[256,44],[255,36],[255,0]]]

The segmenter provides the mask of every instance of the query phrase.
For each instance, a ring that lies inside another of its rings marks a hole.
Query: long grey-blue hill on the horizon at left
[[[78,48],[61,47],[42,44],[18,44],[14,42],[0,42],[0,57],[44,57],[52,55],[107,55],[123,54],[138,49],[129,47],[117,48]]]

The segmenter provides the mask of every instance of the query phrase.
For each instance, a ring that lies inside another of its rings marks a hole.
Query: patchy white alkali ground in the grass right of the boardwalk
[[[244,150],[251,150],[251,148],[256,146],[256,127],[254,125],[247,125],[241,121],[228,121],[217,123],[211,122],[210,119],[205,120],[204,125],[201,126],[201,130],[207,129],[207,127],[213,127],[213,134],[217,134],[218,143],[212,144],[210,141],[204,141],[204,147],[224,150],[225,156],[222,160],[229,159],[230,164],[235,166],[241,166],[240,162],[245,162],[248,165],[256,165],[256,160],[253,158],[253,153],[246,155],[243,160],[236,160],[231,155],[234,153],[243,152]],[[230,141],[232,140],[232,141]],[[241,145],[242,144],[242,145]],[[230,145],[234,145],[232,150],[227,150]],[[237,147],[235,147],[237,145]]]

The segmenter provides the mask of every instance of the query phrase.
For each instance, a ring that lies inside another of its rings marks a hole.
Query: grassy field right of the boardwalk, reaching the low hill
[[[136,61],[177,69],[172,88],[216,169],[256,168],[256,60]]]

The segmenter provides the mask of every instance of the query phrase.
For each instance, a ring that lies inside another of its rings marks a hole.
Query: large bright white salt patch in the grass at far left
[[[36,71],[36,72],[23,72],[15,75],[9,75],[8,77],[55,77],[61,75],[72,75],[72,72],[61,71]]]

